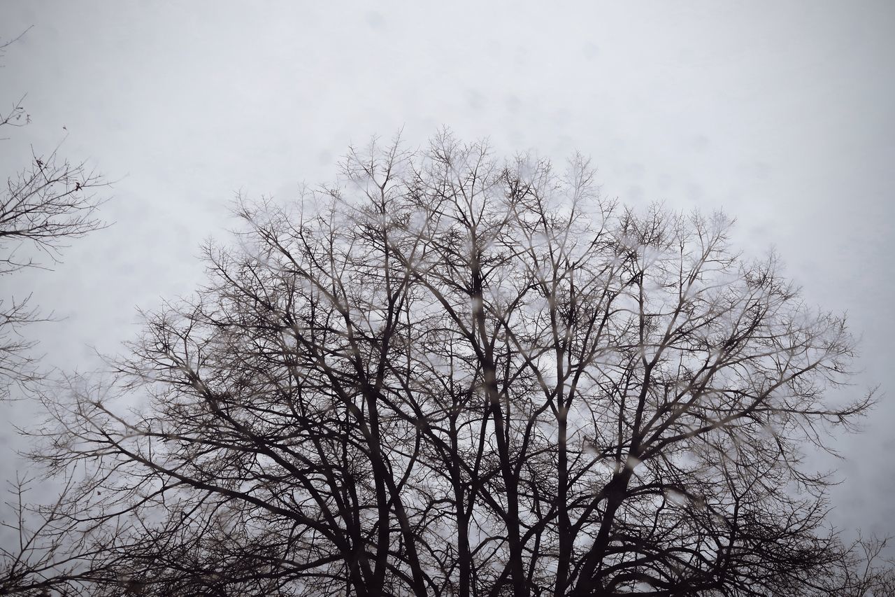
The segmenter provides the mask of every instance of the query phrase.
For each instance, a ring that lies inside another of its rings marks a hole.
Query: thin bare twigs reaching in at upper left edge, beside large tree
[[[0,45],[0,58],[21,35]],[[24,99],[0,110],[0,137],[5,130],[30,124]],[[83,163],[59,158],[57,150],[41,154],[32,149],[30,166],[7,175],[0,191],[0,278],[24,268],[55,264],[65,242],[103,228],[96,217],[101,202],[94,195],[103,184]],[[11,384],[40,377],[38,363],[30,354],[35,342],[23,336],[21,328],[47,321],[47,316],[41,316],[30,299],[28,291],[0,298],[0,400],[9,397]]]

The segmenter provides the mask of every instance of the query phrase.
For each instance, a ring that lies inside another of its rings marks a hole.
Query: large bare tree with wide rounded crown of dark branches
[[[194,299],[37,454],[94,594],[779,595],[837,574],[853,341],[723,215],[601,199],[587,162],[450,135],[240,203]],[[834,394],[834,395],[830,395]]]

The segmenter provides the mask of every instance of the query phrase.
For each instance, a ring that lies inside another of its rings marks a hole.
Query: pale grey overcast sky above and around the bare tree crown
[[[507,156],[581,151],[604,195],[723,209],[740,247],[776,247],[809,303],[848,312],[851,390],[884,397],[838,441],[833,520],[895,534],[895,3],[0,4],[0,37],[30,25],[0,101],[27,92],[33,123],[0,142],[0,174],[62,143],[116,181],[114,226],[55,272],[0,279],[66,317],[28,331],[47,364],[115,353],[136,307],[196,287],[238,190],[294,197],[331,181],[349,143],[404,127],[415,146],[447,125]],[[4,479],[24,466],[9,429]]]

